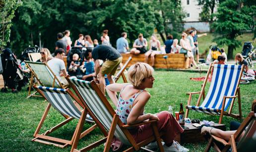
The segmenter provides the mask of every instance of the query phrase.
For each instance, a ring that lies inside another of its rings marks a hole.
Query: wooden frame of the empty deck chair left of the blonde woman
[[[38,88],[36,88],[36,85],[34,85],[34,88],[37,90],[38,93],[40,93],[45,98],[45,100],[47,100],[44,93],[41,90],[39,90]],[[64,139],[48,136],[48,134],[50,134],[53,131],[59,129],[60,127],[64,126],[65,124],[67,124],[68,122],[70,122],[71,120],[74,119],[74,118],[69,117],[67,115],[64,115],[62,113],[61,114],[65,117],[66,120],[64,120],[63,122],[59,123],[58,125],[52,127],[51,129],[47,130],[45,133],[39,134],[40,129],[42,128],[43,123],[44,123],[44,121],[47,117],[47,114],[49,112],[49,109],[51,107],[51,103],[49,102],[45,111],[44,111],[44,113],[43,113],[43,115],[42,115],[42,118],[41,118],[41,120],[40,120],[40,122],[39,122],[39,124],[36,128],[36,131],[33,135],[34,138],[32,139],[32,141],[47,144],[47,145],[54,145],[54,146],[57,146],[57,147],[60,147],[60,148],[64,148],[64,147],[66,147],[68,145],[72,145],[74,143],[74,138],[78,134],[78,129],[80,129],[79,131],[81,132],[81,130],[83,128],[87,113],[89,115],[91,115],[92,113],[91,113],[91,111],[87,111],[88,107],[86,105],[84,105],[83,102],[81,102],[69,89],[66,89],[66,92],[68,93],[68,95],[71,98],[74,99],[74,103],[75,103],[77,108],[81,109],[80,107],[82,107],[81,117],[80,117],[80,119],[77,123],[77,126],[75,128],[75,131],[73,133],[73,136],[72,136],[71,140],[64,140]],[[94,117],[92,117],[92,118],[94,118]],[[78,140],[83,138],[85,135],[89,134],[91,131],[93,131],[97,127],[97,123],[98,122],[96,122],[93,126],[86,129],[84,132],[82,132],[82,133],[79,132],[79,136],[77,136],[77,137],[79,137]],[[99,124],[99,125],[101,125],[101,124]]]

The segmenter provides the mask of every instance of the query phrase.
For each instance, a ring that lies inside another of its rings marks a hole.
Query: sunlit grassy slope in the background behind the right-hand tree
[[[235,57],[236,53],[241,53],[243,50],[243,46],[245,42],[252,42],[253,46],[256,47],[256,42],[253,42],[252,38],[254,37],[253,33],[246,33],[237,37],[237,40],[241,42],[241,45],[236,48],[233,52],[233,57]],[[207,36],[203,36],[198,38],[198,48],[199,53],[203,53],[206,49],[209,50],[210,45],[216,45],[216,43],[212,42],[214,39],[213,34],[207,33]],[[225,52],[228,54],[228,46],[218,46],[219,48],[224,48]]]

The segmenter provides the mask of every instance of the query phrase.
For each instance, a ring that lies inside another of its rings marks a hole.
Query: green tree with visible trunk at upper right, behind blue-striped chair
[[[216,21],[211,26],[216,34],[214,41],[218,45],[228,46],[228,59],[233,58],[234,49],[240,45],[236,37],[254,25],[254,17],[250,13],[253,8],[255,6],[242,7],[242,1],[237,0],[225,0],[218,7]]]

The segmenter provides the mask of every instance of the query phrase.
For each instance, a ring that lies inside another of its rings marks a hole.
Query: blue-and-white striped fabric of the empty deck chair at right
[[[235,96],[239,84],[241,65],[214,64],[214,71],[209,91],[200,106],[188,105],[187,108],[208,114],[220,114],[224,96]],[[227,99],[224,110],[226,111],[231,101]]]

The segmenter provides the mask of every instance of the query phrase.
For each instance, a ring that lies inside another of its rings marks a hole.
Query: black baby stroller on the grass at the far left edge
[[[28,83],[28,78],[19,68],[16,57],[8,48],[2,51],[0,57],[4,81],[4,88],[1,89],[1,92],[7,92],[6,86],[11,89],[13,93],[20,91],[21,88]]]

